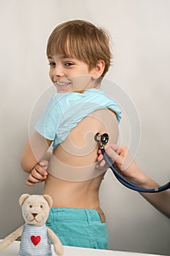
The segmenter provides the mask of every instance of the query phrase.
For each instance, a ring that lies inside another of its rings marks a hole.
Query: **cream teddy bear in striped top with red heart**
[[[25,224],[0,241],[0,251],[21,236],[18,256],[53,256],[50,240],[56,255],[62,256],[61,241],[53,230],[45,225],[52,203],[50,195],[21,195],[19,204]]]

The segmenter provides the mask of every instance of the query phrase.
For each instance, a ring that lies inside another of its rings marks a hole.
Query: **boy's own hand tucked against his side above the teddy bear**
[[[26,184],[30,187],[33,187],[36,183],[45,181],[45,179],[47,178],[47,167],[48,161],[45,160],[36,164],[31,170],[31,173],[26,180]]]

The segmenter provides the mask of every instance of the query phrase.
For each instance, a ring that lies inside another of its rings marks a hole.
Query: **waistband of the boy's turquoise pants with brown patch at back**
[[[104,212],[98,208],[50,208],[48,221],[81,220],[106,222]]]

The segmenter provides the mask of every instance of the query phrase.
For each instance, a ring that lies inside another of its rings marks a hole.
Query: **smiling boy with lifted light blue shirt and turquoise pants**
[[[63,245],[107,249],[107,228],[98,191],[107,170],[96,170],[97,132],[117,142],[120,110],[100,89],[109,69],[109,38],[85,20],[57,26],[47,42],[54,94],[23,150],[29,186],[45,181],[53,197],[47,225]],[[53,143],[53,154],[45,152]],[[47,162],[42,160],[49,160]],[[47,169],[47,171],[45,170]]]

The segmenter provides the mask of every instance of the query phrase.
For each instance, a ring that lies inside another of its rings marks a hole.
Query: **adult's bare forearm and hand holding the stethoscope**
[[[160,185],[148,177],[134,162],[128,152],[128,148],[124,146],[117,146],[115,144],[108,144],[105,148],[106,153],[112,158],[117,170],[128,178],[129,181],[143,187],[145,189],[152,189],[160,187]],[[98,167],[103,167],[106,163],[103,159],[101,151],[98,151]],[[140,193],[152,206],[161,211],[166,217],[170,218],[170,190],[158,193]]]

